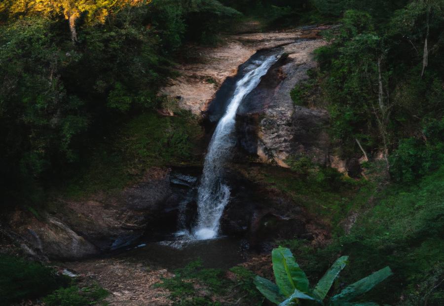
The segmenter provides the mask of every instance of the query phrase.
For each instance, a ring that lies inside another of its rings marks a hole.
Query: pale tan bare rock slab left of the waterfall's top
[[[231,35],[218,47],[195,47],[197,60],[176,67],[181,76],[169,81],[161,92],[177,99],[179,107],[196,115],[206,111],[222,82],[235,76],[238,67],[258,50],[294,43],[300,38],[317,38],[323,27]]]

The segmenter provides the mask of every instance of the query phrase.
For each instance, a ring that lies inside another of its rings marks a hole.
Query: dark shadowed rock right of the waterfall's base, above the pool
[[[231,199],[221,220],[224,234],[245,237],[250,247],[258,250],[264,250],[276,239],[296,237],[311,240],[313,244],[329,239],[328,226],[317,222],[291,198],[243,174],[247,171],[254,178],[254,173],[261,172],[263,166],[243,169],[237,164],[236,167],[227,177]]]

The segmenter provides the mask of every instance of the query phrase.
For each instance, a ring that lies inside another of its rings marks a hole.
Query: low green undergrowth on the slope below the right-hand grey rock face
[[[342,233],[339,223],[344,216],[366,205],[380,184],[378,169],[383,166],[379,162],[364,165],[369,179],[356,180],[306,157],[289,158],[287,162],[290,169],[266,168],[263,180],[329,224],[334,235]]]

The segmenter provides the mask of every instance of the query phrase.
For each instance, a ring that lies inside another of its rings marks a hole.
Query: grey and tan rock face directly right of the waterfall
[[[325,44],[321,39],[299,39],[283,46],[282,58],[239,109],[238,147],[261,162],[288,167],[289,157],[307,156],[355,177],[361,173],[359,163],[332,153],[336,150],[328,134],[328,112],[296,106],[290,95],[297,83],[308,78],[307,71],[316,67],[313,51]]]

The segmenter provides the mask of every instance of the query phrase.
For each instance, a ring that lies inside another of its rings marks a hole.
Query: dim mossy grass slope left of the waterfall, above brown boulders
[[[197,118],[187,112],[138,115],[116,135],[97,144],[61,189],[70,198],[98,191],[112,193],[143,177],[152,166],[199,163],[196,147],[202,133]]]

